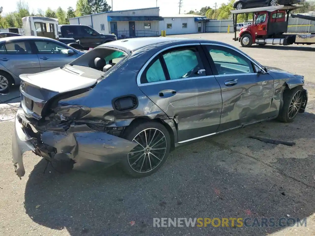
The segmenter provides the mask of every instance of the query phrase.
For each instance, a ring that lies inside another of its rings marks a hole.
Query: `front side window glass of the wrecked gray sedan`
[[[229,48],[207,47],[219,75],[254,73],[251,61],[242,54]]]

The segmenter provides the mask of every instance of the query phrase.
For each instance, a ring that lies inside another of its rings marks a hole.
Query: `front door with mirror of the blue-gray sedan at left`
[[[77,54],[67,54],[65,45],[52,40],[33,40],[41,71],[54,69],[72,62]]]

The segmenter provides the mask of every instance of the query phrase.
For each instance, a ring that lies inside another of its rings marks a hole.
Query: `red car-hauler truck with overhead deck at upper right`
[[[249,8],[241,10],[231,10],[233,14],[234,38],[243,47],[250,47],[252,44],[313,44],[315,34],[286,34],[288,29],[289,14],[301,6],[277,5],[271,7]],[[238,37],[236,37],[237,16],[242,13],[253,14],[253,24],[244,26]],[[300,17],[296,14],[294,17]],[[305,17],[304,15],[302,15]],[[308,20],[315,17],[307,16]],[[302,18],[305,19],[305,18]]]

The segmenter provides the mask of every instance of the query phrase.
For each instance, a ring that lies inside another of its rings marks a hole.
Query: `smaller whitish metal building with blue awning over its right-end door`
[[[163,17],[160,21],[160,31],[165,30],[166,35],[202,33],[205,32],[207,21],[207,17],[193,14]]]

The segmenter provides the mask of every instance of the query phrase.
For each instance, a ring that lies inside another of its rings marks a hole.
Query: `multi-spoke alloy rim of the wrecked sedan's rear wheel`
[[[148,128],[138,133],[132,141],[138,143],[128,153],[128,163],[134,171],[150,172],[162,162],[167,149],[163,132]]]

